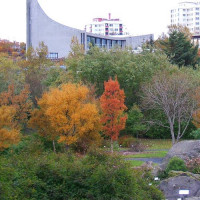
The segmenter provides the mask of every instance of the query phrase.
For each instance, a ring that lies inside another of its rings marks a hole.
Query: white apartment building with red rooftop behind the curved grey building
[[[94,18],[92,23],[85,26],[88,33],[99,35],[129,35],[126,26],[120,19],[112,19],[111,14],[106,18]]]

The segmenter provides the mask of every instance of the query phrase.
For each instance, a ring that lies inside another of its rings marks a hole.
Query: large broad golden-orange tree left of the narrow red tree
[[[81,142],[87,146],[100,140],[100,116],[96,105],[89,102],[87,87],[64,84],[43,94],[38,105],[30,124],[42,136],[66,145]]]

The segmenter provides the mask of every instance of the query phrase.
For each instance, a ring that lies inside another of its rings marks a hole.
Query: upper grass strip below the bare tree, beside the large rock
[[[139,141],[148,146],[147,150],[170,149],[172,147],[172,141],[170,139],[139,139]]]

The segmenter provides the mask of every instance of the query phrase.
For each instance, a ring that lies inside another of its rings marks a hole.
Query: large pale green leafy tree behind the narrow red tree
[[[134,103],[140,104],[141,84],[170,66],[167,56],[158,51],[145,51],[141,55],[133,54],[129,49],[92,47],[79,62],[77,76],[83,83],[95,85],[97,97],[100,97],[104,92],[104,81],[117,75],[121,88],[124,88],[125,104],[130,109]]]

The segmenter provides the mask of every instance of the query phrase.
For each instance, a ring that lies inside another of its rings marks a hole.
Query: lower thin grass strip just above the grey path
[[[126,155],[126,158],[163,158],[167,154],[167,151],[155,151],[155,152],[145,152],[133,155]]]

